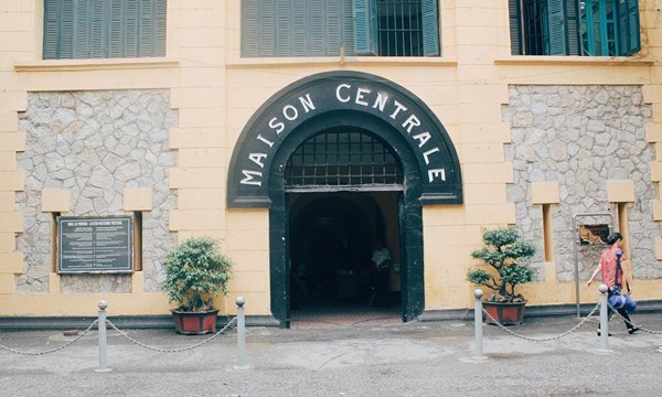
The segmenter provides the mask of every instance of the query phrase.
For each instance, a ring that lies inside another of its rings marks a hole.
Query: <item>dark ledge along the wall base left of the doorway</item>
[[[233,318],[218,315],[217,328],[225,326]],[[28,318],[0,316],[0,331],[49,331],[49,330],[84,330],[96,316]],[[121,315],[108,316],[118,329],[172,329],[171,315]],[[246,315],[246,326],[279,326],[271,315]]]

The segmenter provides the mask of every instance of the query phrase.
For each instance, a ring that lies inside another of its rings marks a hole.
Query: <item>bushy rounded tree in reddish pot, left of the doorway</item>
[[[216,329],[218,310],[214,298],[227,293],[232,260],[221,254],[211,237],[192,237],[174,247],[163,261],[161,285],[170,302],[175,330],[182,334],[204,334]]]

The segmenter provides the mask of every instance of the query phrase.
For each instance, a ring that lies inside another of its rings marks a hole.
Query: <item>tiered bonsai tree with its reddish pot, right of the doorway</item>
[[[467,281],[494,291],[483,302],[494,320],[502,324],[520,324],[526,299],[515,293],[515,287],[535,278],[535,270],[526,262],[535,255],[535,245],[522,239],[520,230],[513,226],[483,229],[482,240],[484,247],[473,250],[471,257],[491,269],[472,268],[467,272]]]

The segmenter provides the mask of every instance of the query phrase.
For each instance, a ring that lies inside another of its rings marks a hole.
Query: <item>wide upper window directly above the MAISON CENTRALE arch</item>
[[[439,55],[437,0],[243,0],[242,56]]]

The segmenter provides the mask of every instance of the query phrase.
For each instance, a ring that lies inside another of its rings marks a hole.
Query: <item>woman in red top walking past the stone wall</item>
[[[632,293],[632,290],[630,289],[630,282],[628,282],[629,277],[628,276],[623,277],[623,275],[626,275],[626,271],[624,271],[626,268],[623,266],[623,262],[626,260],[628,260],[628,258],[626,257],[626,255],[623,254],[623,250],[622,250],[623,236],[621,236],[620,233],[615,232],[615,233],[610,234],[609,237],[607,237],[607,244],[609,245],[609,247],[607,247],[607,249],[605,249],[602,251],[602,255],[600,255],[600,262],[594,270],[594,272],[590,276],[590,279],[586,283],[586,286],[590,286],[590,283],[596,278],[596,276],[599,272],[601,272],[602,273],[602,282],[605,285],[607,285],[607,287],[609,287],[609,297],[611,297],[615,288],[618,288],[619,290],[622,288],[623,278],[626,279],[626,287],[628,289],[627,293],[630,294],[630,293]],[[636,328],[632,324],[632,321],[630,320],[630,315],[628,314],[628,311],[624,308],[617,309],[617,311],[624,319],[623,322],[626,323],[626,326],[628,328],[629,334],[633,334],[634,332],[639,331],[639,328]],[[610,319],[611,319],[612,314],[613,314],[613,310],[611,308],[609,308],[609,318]],[[598,325],[598,335],[600,335],[600,326],[599,325]]]

